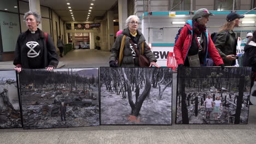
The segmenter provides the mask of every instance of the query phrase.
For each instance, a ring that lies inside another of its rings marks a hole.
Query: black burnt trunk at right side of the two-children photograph
[[[235,124],[240,123],[240,115],[243,103],[243,88],[245,87],[245,75],[241,75],[238,87],[238,96],[236,100],[236,114],[235,114]]]

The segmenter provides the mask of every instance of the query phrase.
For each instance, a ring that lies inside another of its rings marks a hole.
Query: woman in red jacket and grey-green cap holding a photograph
[[[210,15],[213,14],[207,9],[199,9],[192,20],[188,20],[182,28],[173,49],[178,67],[206,66],[209,53],[213,62],[224,68],[223,60],[206,29]]]

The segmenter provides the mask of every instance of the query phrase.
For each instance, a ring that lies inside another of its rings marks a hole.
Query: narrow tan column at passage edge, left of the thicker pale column
[[[114,44],[114,12],[108,11],[107,13],[107,22],[108,22],[108,50],[112,48],[112,45]]]

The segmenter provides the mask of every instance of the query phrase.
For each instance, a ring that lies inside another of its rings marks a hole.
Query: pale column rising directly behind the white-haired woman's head
[[[127,19],[127,0],[118,0],[118,19],[119,30],[125,29],[125,20]]]

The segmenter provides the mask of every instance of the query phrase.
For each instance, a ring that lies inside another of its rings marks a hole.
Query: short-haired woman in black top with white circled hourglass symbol
[[[57,67],[59,58],[50,35],[38,28],[41,16],[34,11],[28,11],[24,15],[27,31],[19,35],[13,64],[14,69],[21,71],[25,69],[52,70]]]

